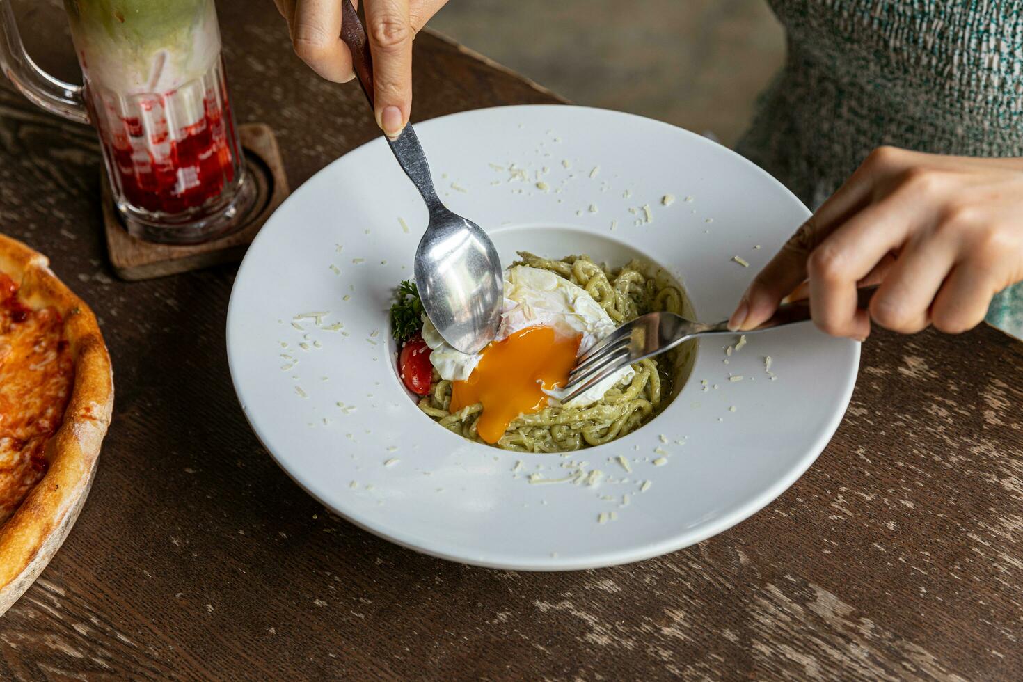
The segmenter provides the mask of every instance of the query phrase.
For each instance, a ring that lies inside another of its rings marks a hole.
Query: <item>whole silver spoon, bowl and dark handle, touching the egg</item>
[[[372,107],[373,70],[366,32],[350,0],[341,4],[341,39],[352,52],[355,76]],[[497,335],[501,320],[503,280],[497,249],[479,225],[448,211],[437,196],[411,124],[397,139],[388,138],[388,144],[430,211],[430,224],[415,249],[415,283],[422,308],[452,348],[478,353]]]

